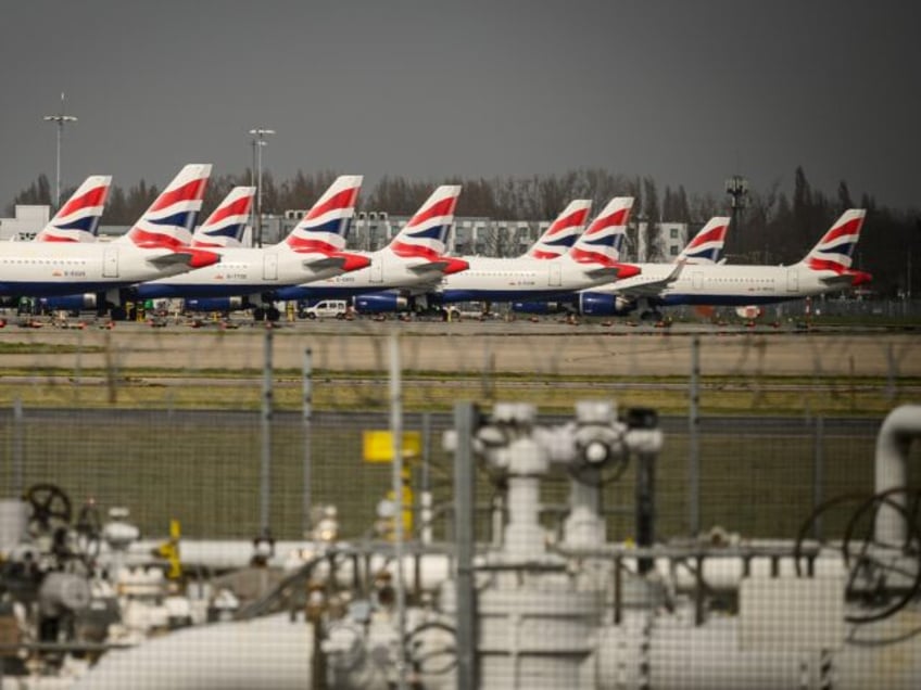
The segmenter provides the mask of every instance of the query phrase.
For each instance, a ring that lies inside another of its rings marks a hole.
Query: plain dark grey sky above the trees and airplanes
[[[278,130],[278,178],[604,167],[721,194],[739,171],[919,206],[918,4],[822,2],[3,3],[0,206],[112,174],[162,187],[188,162],[241,173]]]

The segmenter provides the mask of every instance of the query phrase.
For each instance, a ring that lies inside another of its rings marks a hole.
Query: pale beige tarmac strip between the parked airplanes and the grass
[[[484,370],[566,375],[685,375],[692,343],[701,342],[705,375],[921,376],[921,337],[911,331],[774,330],[742,325],[556,321],[315,321],[272,329],[273,366],[300,370],[305,349],[313,367],[330,371],[386,371],[389,335],[399,333],[405,370]],[[265,328],[217,324],[151,328],[119,322],[112,329],[0,329],[2,369],[262,369]],[[16,352],[13,352],[16,350]],[[0,375],[2,375],[0,369]]]

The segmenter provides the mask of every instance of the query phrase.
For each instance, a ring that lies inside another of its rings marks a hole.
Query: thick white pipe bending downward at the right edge
[[[921,437],[921,405],[903,405],[888,413],[876,436],[875,491],[882,494],[906,485],[911,440]],[[892,500],[906,507],[907,496],[896,494]],[[881,506],[876,513],[875,538],[879,544],[901,546],[906,525],[899,511]]]

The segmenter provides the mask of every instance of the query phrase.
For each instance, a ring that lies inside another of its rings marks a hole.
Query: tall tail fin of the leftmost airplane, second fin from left
[[[210,163],[184,167],[140,220],[118,241],[148,248],[188,246],[192,241],[192,228],[201,210],[210,176]]]

